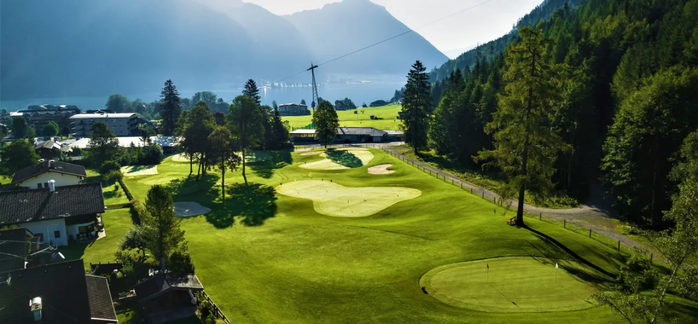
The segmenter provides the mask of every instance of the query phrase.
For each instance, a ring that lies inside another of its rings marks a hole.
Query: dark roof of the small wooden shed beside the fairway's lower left
[[[151,279],[133,286],[135,297],[139,302],[157,297],[168,290],[204,290],[194,274],[158,274]]]

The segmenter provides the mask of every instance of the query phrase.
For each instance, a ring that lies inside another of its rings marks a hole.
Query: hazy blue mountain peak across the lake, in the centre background
[[[344,0],[284,17],[306,37],[320,63],[409,30],[385,7],[369,0]],[[448,58],[413,32],[333,61],[323,69],[329,73],[404,75],[417,59],[425,66],[438,66]]]

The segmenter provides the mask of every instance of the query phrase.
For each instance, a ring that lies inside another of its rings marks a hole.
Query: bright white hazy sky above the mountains
[[[338,0],[244,0],[277,15],[287,15],[302,10],[322,8],[326,3]],[[486,0],[371,0],[387,10],[410,28],[418,28],[429,22],[472,7]],[[543,0],[491,0],[482,6],[459,13],[453,17],[417,29],[449,57],[456,57],[464,49],[486,43],[503,36],[512,29],[517,19],[526,15]]]

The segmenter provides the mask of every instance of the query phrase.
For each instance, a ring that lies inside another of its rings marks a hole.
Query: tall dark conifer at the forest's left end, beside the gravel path
[[[403,105],[402,128],[405,142],[411,145],[415,154],[426,148],[431,113],[431,93],[429,73],[420,61],[412,65],[407,75]]]

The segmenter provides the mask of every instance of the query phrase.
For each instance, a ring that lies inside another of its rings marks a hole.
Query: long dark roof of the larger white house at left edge
[[[102,184],[0,192],[0,225],[61,219],[104,212]]]

